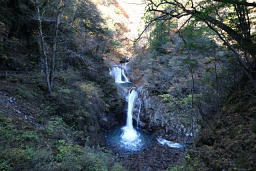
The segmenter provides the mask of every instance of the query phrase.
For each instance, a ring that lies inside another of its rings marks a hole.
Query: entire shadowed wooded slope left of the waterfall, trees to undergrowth
[[[0,170],[122,169],[97,147],[121,107],[111,36],[90,1],[0,1]]]

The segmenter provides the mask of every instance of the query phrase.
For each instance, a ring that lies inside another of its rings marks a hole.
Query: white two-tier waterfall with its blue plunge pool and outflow
[[[115,79],[119,90],[122,91],[121,96],[125,97],[128,103],[126,125],[117,127],[106,134],[106,142],[117,150],[124,151],[140,151],[152,145],[152,138],[145,134],[142,130],[133,127],[133,110],[135,103],[138,102],[139,110],[136,118],[137,128],[140,123],[140,112],[142,108],[142,101],[138,97],[138,92],[133,84],[129,81],[125,73],[127,69],[126,64],[115,65],[110,69],[109,74]],[[150,115],[151,117],[151,115]],[[167,145],[171,148],[182,148],[183,145],[175,142],[165,140],[161,137],[157,138],[161,145]]]

